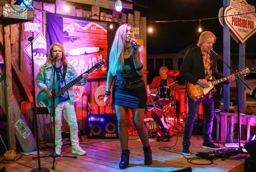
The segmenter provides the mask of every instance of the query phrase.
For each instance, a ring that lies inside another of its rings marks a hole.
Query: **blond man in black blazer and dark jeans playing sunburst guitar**
[[[222,78],[223,76],[217,70],[217,56],[214,53],[209,52],[209,48],[215,43],[216,37],[210,31],[205,31],[201,33],[197,47],[190,48],[186,52],[183,59],[182,66],[180,68],[180,75],[184,77],[188,82],[192,84],[199,84],[202,87],[209,87],[207,76],[213,76],[216,79]],[[234,81],[234,75],[231,79],[224,82]],[[198,111],[199,104],[202,102],[205,121],[204,121],[204,142],[202,147],[207,149],[220,149],[219,146],[214,145],[211,142],[211,132],[212,132],[212,121],[213,121],[213,110],[214,110],[214,98],[212,93],[209,93],[206,98],[202,101],[194,101],[188,96],[188,118],[185,123],[184,136],[183,136],[183,155],[190,155],[189,146],[190,138],[193,129],[193,123],[196,119],[196,114]]]

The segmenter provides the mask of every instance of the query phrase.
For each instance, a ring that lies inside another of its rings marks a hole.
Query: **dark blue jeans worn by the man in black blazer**
[[[188,118],[186,120],[185,129],[184,129],[184,136],[183,136],[183,145],[189,144],[190,145],[190,138],[193,130],[193,124],[196,119],[197,111],[199,104],[202,102],[205,114],[204,120],[204,143],[211,142],[211,132],[212,132],[212,121],[213,121],[213,109],[214,109],[214,99],[213,97],[208,98],[206,97],[202,101],[194,101],[190,97],[188,97]]]

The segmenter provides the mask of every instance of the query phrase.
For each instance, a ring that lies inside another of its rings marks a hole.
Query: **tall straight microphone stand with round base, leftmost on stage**
[[[32,58],[32,77],[33,77],[33,117],[35,119],[35,128],[36,128],[36,149],[37,149],[37,156],[40,157],[39,153],[39,138],[38,138],[38,128],[37,128],[37,110],[36,110],[36,95],[35,95],[35,69],[34,69],[34,57],[33,57],[33,39],[34,37],[31,36],[28,38],[31,44],[31,58]],[[31,172],[50,172],[50,170],[46,167],[41,168],[40,158],[38,158],[38,168],[34,168]]]

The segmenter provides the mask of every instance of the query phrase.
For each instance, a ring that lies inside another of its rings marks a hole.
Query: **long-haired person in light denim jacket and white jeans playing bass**
[[[54,59],[56,58],[56,66],[54,66]],[[55,77],[53,72],[55,69]],[[49,50],[48,61],[40,68],[36,76],[36,84],[40,90],[45,90],[49,98],[52,97],[52,81],[55,79],[55,91],[64,87],[77,77],[76,71],[71,64],[66,61],[64,48],[60,43],[53,43]],[[88,74],[83,74],[81,85],[85,86]],[[58,105],[55,107],[55,152],[57,155],[61,153],[62,137],[61,137],[61,114],[63,112],[64,119],[68,122],[70,127],[70,139],[72,143],[72,153],[78,155],[85,155],[86,152],[79,146],[78,139],[78,125],[76,119],[76,111],[74,108],[73,90],[70,89],[63,95],[57,98]]]

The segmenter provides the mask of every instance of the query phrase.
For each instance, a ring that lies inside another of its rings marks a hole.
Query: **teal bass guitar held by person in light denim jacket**
[[[103,64],[104,64],[103,60],[100,62],[97,62],[92,68],[90,68],[88,71],[84,72],[83,74],[85,74],[85,73],[90,74],[95,69],[99,69]],[[58,105],[57,97],[60,97],[66,91],[68,91],[68,89],[73,87],[73,85],[75,85],[77,82],[81,81],[81,79],[83,79],[83,76],[82,76],[83,74],[81,74],[79,77],[77,77],[76,79],[74,79],[73,81],[71,81],[70,83],[65,85],[64,87],[60,88],[59,90],[58,90],[58,85],[59,85],[58,82],[55,83],[55,90],[56,90],[56,92],[54,94],[54,107],[55,108]],[[51,101],[52,101],[51,98],[48,97],[47,93],[44,90],[41,90],[38,93],[36,103],[38,104],[39,107],[47,107],[49,112],[51,112]]]

